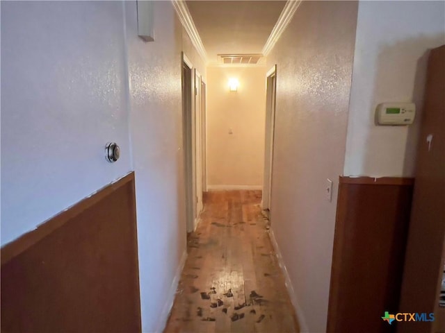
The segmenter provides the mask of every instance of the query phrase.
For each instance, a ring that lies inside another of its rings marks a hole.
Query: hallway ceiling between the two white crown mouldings
[[[261,53],[286,1],[186,1],[207,51],[218,54]]]

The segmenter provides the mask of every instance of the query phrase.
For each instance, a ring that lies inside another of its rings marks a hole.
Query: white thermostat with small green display
[[[411,125],[416,117],[414,103],[381,103],[375,109],[378,125]]]

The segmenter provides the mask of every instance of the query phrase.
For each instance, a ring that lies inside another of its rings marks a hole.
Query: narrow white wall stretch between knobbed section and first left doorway
[[[137,35],[136,2],[125,10],[142,324],[143,332],[161,332],[186,251],[181,51],[204,66],[170,1],[154,3],[154,42]]]

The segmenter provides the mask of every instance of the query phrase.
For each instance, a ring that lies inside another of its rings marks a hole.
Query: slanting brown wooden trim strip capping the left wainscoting
[[[81,212],[92,207],[92,205],[95,205],[96,203],[98,203],[100,200],[111,194],[116,189],[126,185],[128,182],[133,182],[134,179],[135,179],[134,172],[131,171],[126,176],[118,180],[115,180],[115,182],[112,182],[110,185],[102,187],[102,189],[99,189],[99,191],[79,201],[79,203],[76,203],[72,207],[67,208],[63,212],[60,212],[51,219],[38,225],[38,227],[35,230],[27,232],[26,234],[22,234],[22,236],[20,236],[19,238],[6,244],[0,250],[1,265],[3,266],[3,264],[9,262],[10,259],[13,259],[13,257],[16,257],[20,253],[24,252],[24,250],[30,248],[38,241],[46,237],[48,234],[51,234],[51,232],[54,232],[54,230],[63,226],[65,223],[67,223],[67,221],[70,221],[70,219],[72,219],[73,217],[81,214]]]

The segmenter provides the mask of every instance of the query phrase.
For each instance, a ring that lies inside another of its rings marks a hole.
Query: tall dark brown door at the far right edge
[[[403,312],[418,312],[427,317],[426,321],[398,323],[399,333],[445,332],[444,92],[445,45],[432,50],[428,60],[400,304]],[[434,321],[430,314],[434,314]]]

